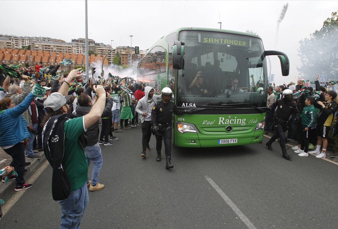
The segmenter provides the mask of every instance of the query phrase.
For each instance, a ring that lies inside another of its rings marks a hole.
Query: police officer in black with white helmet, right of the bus
[[[277,100],[272,106],[271,110],[274,111],[277,107],[275,117],[273,118],[274,120],[274,125],[276,128],[276,133],[270,138],[270,140],[265,144],[269,150],[272,150],[271,144],[280,137],[280,145],[282,148],[283,152],[283,158],[285,159],[292,159],[292,156],[289,155],[286,152],[285,148],[285,142],[286,142],[286,137],[285,137],[285,131],[288,126],[288,120],[293,113],[295,115],[295,120],[296,122],[299,120],[299,111],[297,109],[297,106],[293,100],[293,95],[292,91],[290,89],[285,89],[283,91],[283,99]]]

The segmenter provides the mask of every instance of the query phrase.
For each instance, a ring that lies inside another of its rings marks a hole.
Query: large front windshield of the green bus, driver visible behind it
[[[184,68],[176,76],[178,107],[253,103],[266,106],[267,69],[261,39],[182,31]]]

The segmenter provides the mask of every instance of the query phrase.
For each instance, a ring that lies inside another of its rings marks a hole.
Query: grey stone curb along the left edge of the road
[[[46,161],[46,156],[44,152],[40,152],[37,155],[41,156],[41,158],[27,160],[26,157],[26,161],[27,162],[30,161],[31,164],[25,167],[25,169],[27,169],[27,172],[25,172],[23,176],[25,178],[25,181],[27,181],[31,177],[33,172],[35,172],[41,166],[41,164]],[[5,198],[9,193],[15,192],[14,188],[15,188],[15,180],[8,181],[7,183],[0,182],[0,199],[5,201]]]

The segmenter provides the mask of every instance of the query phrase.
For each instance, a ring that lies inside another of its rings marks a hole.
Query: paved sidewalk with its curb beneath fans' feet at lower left
[[[25,169],[27,172],[24,174],[25,181],[29,179],[29,177],[33,174],[35,171],[35,168],[39,166],[40,163],[45,162],[46,157],[44,152],[39,152],[38,155],[41,156],[40,159],[28,159],[26,158],[26,162],[30,162],[31,164],[29,166],[26,166]],[[4,168],[6,166],[9,166],[10,162],[12,161],[12,157],[9,156],[3,149],[0,148],[0,168]],[[15,180],[10,180],[7,183],[0,182],[0,199],[4,200],[6,202],[6,196],[10,192],[14,192],[15,187]]]

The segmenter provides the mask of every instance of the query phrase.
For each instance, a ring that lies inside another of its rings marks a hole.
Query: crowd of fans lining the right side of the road
[[[330,131],[336,135],[338,126],[334,124],[334,118],[338,116],[338,98],[337,89],[334,84],[337,81],[321,83],[318,81],[319,75],[314,82],[299,78],[293,92],[293,102],[297,105],[300,120],[295,122],[294,114],[288,121],[288,140],[298,141],[298,145],[292,147],[299,156],[316,155],[317,158],[325,158],[328,149],[328,137]],[[310,86],[315,84],[315,88]],[[276,100],[282,99],[284,90],[289,89],[294,83],[268,87],[267,107],[271,108]],[[274,133],[273,114],[275,110],[267,111],[266,125],[264,133]],[[335,128],[331,128],[334,126]],[[308,149],[315,149],[308,151]],[[332,157],[338,157],[338,152],[330,154]]]

